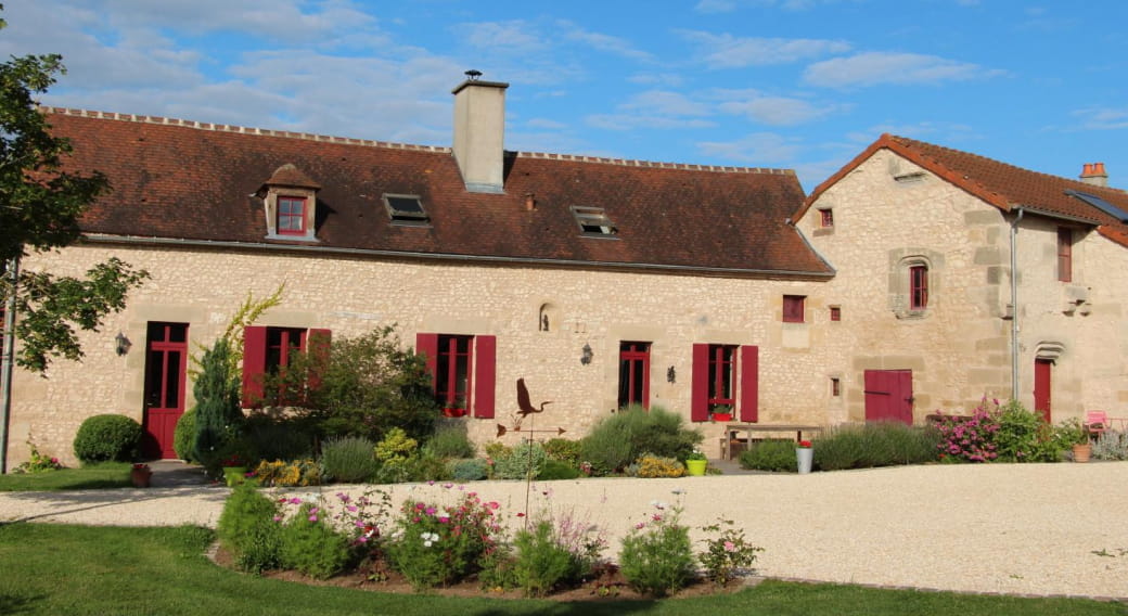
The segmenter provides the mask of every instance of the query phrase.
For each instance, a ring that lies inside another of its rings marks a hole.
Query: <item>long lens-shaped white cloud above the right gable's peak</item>
[[[880,83],[917,85],[966,81],[1004,74],[979,64],[918,53],[865,52],[816,62],[803,79],[814,86],[848,88]]]

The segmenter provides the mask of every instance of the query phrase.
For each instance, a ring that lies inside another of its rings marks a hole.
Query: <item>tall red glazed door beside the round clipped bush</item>
[[[150,323],[147,337],[141,449],[148,458],[176,458],[173,432],[184,414],[188,325]]]

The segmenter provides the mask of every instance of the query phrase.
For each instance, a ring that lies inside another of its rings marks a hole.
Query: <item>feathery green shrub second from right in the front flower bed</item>
[[[623,538],[619,571],[638,592],[677,592],[693,579],[694,564],[689,529],[679,523],[677,510],[662,509]]]

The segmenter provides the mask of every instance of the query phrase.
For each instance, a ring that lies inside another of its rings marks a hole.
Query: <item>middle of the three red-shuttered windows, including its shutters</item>
[[[448,416],[494,416],[495,336],[418,334],[416,352],[425,355],[434,397]]]

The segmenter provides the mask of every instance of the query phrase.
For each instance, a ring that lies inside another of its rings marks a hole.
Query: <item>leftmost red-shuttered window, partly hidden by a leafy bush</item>
[[[263,327],[248,325],[243,331],[243,406],[257,408],[265,401],[265,382],[270,376],[282,375],[298,353],[316,353],[328,360],[331,333],[328,329],[305,327]],[[316,375],[306,375],[301,382],[287,382],[301,390],[316,388]],[[299,391],[284,394],[283,401],[273,404],[300,404]],[[291,398],[291,396],[293,396]]]

